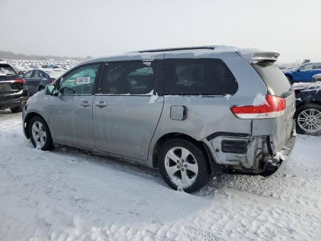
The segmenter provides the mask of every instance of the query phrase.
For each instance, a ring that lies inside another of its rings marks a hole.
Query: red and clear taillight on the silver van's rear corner
[[[267,94],[261,105],[231,106],[231,111],[241,119],[264,119],[280,116],[286,107],[285,99]]]

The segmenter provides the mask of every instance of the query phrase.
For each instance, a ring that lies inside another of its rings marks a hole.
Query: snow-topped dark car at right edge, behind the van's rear
[[[295,83],[296,131],[299,134],[321,134],[321,82]]]

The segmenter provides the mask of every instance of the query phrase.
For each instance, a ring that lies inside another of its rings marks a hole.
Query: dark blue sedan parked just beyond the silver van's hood
[[[22,78],[27,82],[30,96],[43,90],[47,84],[55,80],[55,78],[50,77],[49,74],[40,69],[30,70]]]

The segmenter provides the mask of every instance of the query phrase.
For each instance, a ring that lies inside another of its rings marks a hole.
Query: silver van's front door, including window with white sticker
[[[49,102],[49,118],[54,140],[95,149],[92,104],[101,63],[83,65],[57,81],[58,96]]]

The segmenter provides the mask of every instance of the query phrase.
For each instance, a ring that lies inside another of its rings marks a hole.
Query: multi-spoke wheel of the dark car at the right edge
[[[294,114],[298,134],[317,136],[321,134],[321,106],[305,104],[297,108]]]

